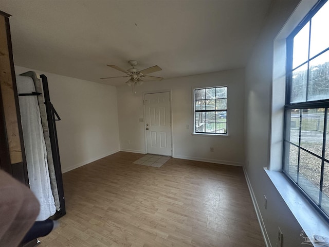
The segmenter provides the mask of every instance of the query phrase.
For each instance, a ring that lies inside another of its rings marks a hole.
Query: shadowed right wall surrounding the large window
[[[263,32],[246,66],[245,161],[246,164],[249,161],[249,165],[245,169],[272,246],[277,243],[278,227],[284,235],[283,246],[303,246],[300,225],[263,169],[269,165],[273,40],[298,3],[299,0],[273,1]]]

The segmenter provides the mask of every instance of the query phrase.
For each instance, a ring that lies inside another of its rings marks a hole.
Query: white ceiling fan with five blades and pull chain
[[[157,72],[162,70],[158,65],[149,67],[149,68],[145,68],[142,70],[138,70],[137,68],[135,68],[135,66],[137,65],[137,61],[135,60],[130,60],[129,64],[132,66],[132,68],[129,68],[127,70],[120,68],[116,65],[109,65],[107,64],[107,66],[117,69],[123,73],[126,74],[126,76],[114,76],[114,77],[105,77],[105,78],[100,78],[100,79],[112,79],[112,78],[120,78],[120,77],[130,77],[130,79],[128,81],[126,81],[126,84],[129,86],[132,86],[132,90],[135,91],[136,94],[136,90],[135,90],[135,86],[137,85],[141,85],[143,84],[144,81],[161,81],[163,78],[162,77],[157,77],[157,76],[149,76],[148,74]]]

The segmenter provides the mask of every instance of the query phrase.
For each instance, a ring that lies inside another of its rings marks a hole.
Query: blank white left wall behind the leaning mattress
[[[15,66],[16,74],[29,68]],[[34,70],[48,78],[50,100],[61,117],[56,122],[62,172],[118,152],[118,111],[114,86]]]

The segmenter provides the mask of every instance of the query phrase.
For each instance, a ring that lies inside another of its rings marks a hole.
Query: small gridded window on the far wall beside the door
[[[194,133],[227,134],[227,87],[194,89]]]

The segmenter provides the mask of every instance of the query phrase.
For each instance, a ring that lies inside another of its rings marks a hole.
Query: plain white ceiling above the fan
[[[0,0],[15,65],[124,84],[107,67],[158,65],[167,78],[245,66],[270,0]]]

